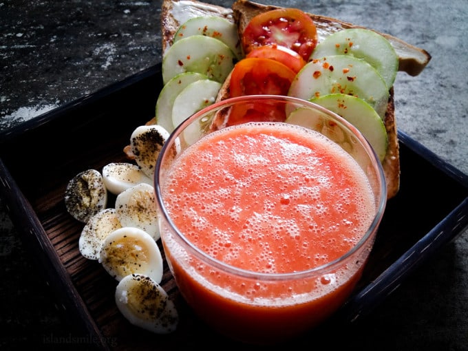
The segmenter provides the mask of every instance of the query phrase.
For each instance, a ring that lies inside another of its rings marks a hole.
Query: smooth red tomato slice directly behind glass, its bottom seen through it
[[[270,58],[244,58],[231,72],[231,97],[244,95],[287,95],[296,74],[289,67]],[[246,122],[284,122],[284,107],[275,103],[254,103],[251,106],[233,106],[226,125]]]

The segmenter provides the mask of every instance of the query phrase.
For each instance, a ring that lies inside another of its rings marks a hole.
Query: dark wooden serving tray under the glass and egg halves
[[[237,345],[198,320],[178,293],[164,262],[162,286],[180,314],[178,330],[157,335],[131,326],[114,302],[116,281],[98,262],[83,258],[83,224],[63,202],[78,172],[125,161],[131,132],[154,114],[161,65],[0,134],[0,195],[23,241],[43,266],[67,316],[98,350],[169,350]],[[468,178],[403,132],[401,190],[387,203],[370,262],[354,295],[319,332],[347,325],[389,295],[468,225]],[[427,191],[427,184],[432,190]],[[110,204],[114,199],[110,199]],[[160,243],[159,243],[160,244]],[[318,332],[288,344],[294,347]],[[237,345],[240,346],[240,345]],[[242,348],[247,348],[242,345]]]

